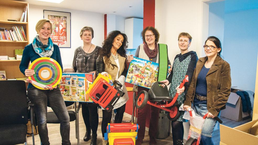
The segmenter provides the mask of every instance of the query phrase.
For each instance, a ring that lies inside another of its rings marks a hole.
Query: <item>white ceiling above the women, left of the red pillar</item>
[[[126,18],[143,18],[143,0],[64,0],[59,4],[35,0],[20,1],[25,1],[33,5],[114,14]]]

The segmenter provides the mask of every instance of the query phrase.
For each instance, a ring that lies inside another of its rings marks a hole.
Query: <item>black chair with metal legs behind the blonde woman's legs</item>
[[[76,138],[77,138],[77,144],[79,145],[80,144],[80,140],[79,140],[79,123],[78,123],[79,122],[79,118],[77,116],[78,116],[78,113],[79,113],[79,109],[80,109],[81,103],[79,103],[78,109],[76,109],[76,102],[67,102],[67,101],[65,101],[64,103],[65,103],[66,107],[71,106],[72,104],[74,104],[74,106],[75,106],[74,107],[75,111],[68,110],[68,114],[69,114],[69,117],[70,117],[70,122],[75,120],[75,133],[76,133]],[[60,121],[58,120],[56,114],[53,111],[47,112],[47,123],[53,123],[53,124],[59,124],[60,123]]]

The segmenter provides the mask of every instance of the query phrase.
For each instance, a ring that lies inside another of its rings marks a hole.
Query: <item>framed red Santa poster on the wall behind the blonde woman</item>
[[[52,10],[43,10],[44,19],[53,23],[53,32],[50,36],[53,43],[60,48],[71,48],[71,13]]]

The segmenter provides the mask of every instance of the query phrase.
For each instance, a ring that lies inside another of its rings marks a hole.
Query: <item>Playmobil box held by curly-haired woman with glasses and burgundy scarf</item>
[[[150,88],[158,80],[159,64],[133,57],[125,81],[137,86]]]

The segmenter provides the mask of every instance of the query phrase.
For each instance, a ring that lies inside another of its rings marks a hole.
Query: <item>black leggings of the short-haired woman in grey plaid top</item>
[[[87,130],[92,130],[92,133],[96,134],[99,124],[98,107],[87,106],[82,103],[82,117]]]

